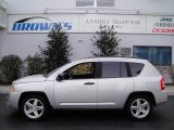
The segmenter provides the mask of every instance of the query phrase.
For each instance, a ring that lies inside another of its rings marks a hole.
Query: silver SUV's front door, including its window
[[[97,108],[96,63],[80,63],[63,72],[54,82],[54,99],[59,108]]]

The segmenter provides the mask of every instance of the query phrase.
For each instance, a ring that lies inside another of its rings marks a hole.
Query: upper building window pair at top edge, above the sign
[[[115,0],[76,0],[77,8],[114,6]]]

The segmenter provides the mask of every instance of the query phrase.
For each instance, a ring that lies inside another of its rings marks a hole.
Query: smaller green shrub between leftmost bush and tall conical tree
[[[24,62],[26,64],[25,75],[37,75],[44,72],[44,60],[39,54],[28,55]]]

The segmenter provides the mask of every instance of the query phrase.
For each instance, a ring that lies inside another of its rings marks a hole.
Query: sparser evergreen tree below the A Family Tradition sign
[[[111,26],[100,26],[99,31],[96,32],[98,37],[94,36],[91,41],[94,46],[99,49],[99,52],[92,54],[95,56],[117,56],[119,55],[119,42],[121,39],[115,37],[116,31],[114,31],[114,27]]]

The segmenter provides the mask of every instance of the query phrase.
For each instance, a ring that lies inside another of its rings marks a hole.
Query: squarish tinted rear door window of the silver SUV
[[[120,63],[119,62],[103,62],[102,63],[102,78],[119,78]]]

